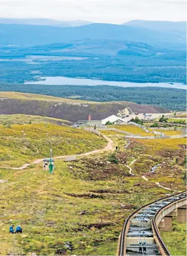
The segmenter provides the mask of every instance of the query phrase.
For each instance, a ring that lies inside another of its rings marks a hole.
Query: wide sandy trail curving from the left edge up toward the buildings
[[[93,150],[93,151],[90,151],[90,152],[86,152],[84,154],[79,154],[79,155],[60,155],[58,157],[53,157],[53,159],[60,159],[60,158],[73,157],[73,156],[84,157],[86,155],[93,155],[93,154],[101,153],[101,152],[104,152],[104,151],[114,151],[115,147],[114,147],[112,139],[108,138],[106,135],[102,135],[102,137],[105,138],[106,141],[108,141],[108,144],[106,145],[105,148],[96,149],[96,150]],[[36,159],[34,162],[31,162],[30,164],[26,163],[26,164],[22,165],[21,167],[0,167],[0,168],[5,168],[5,169],[25,169],[29,165],[39,164],[40,162],[43,161],[43,159],[44,158]]]

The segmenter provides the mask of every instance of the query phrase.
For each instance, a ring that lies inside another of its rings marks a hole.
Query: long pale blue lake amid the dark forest
[[[123,82],[123,81],[104,81],[102,79],[70,78],[70,77],[38,77],[41,81],[25,82],[25,84],[44,84],[44,85],[111,85],[118,87],[166,87],[186,89],[182,82]]]

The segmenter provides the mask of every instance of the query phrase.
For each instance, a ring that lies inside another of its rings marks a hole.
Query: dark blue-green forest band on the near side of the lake
[[[24,85],[0,84],[1,91],[27,92],[62,98],[84,99],[87,101],[131,101],[142,105],[184,111],[186,91],[184,89],[161,87],[112,87],[107,85]]]

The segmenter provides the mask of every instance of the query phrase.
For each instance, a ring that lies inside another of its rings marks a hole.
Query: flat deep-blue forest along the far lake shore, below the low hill
[[[105,56],[82,60],[0,61],[0,82],[36,81],[36,75],[101,78],[108,81],[185,82],[185,61],[141,56]]]

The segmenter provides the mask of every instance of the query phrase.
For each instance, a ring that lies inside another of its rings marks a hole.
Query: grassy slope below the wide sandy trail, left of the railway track
[[[125,218],[165,190],[141,177],[132,179],[123,164],[106,161],[108,155],[58,159],[53,175],[41,164],[2,169],[0,255],[115,255]],[[10,223],[21,224],[24,233],[9,234]]]

